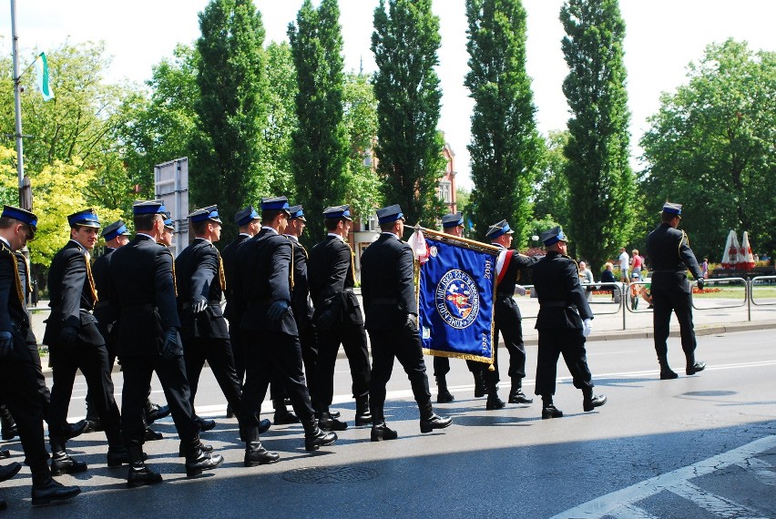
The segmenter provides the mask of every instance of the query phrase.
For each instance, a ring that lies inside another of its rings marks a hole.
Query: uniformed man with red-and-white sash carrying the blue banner
[[[509,351],[509,378],[512,387],[509,390],[509,403],[532,403],[533,399],[523,392],[523,379],[526,377],[526,346],[523,343],[523,318],[520,309],[513,296],[516,293],[525,294],[526,290],[517,284],[520,270],[533,267],[536,260],[518,253],[512,247],[512,233],[515,231],[509,227],[506,220],[490,226],[485,237],[491,243],[499,247],[501,252],[495,262],[496,286],[495,286],[495,311],[494,311],[494,344],[498,343],[498,334],[504,340],[506,351]],[[499,381],[498,374],[498,348],[494,348],[494,371],[485,371],[487,383],[487,403],[485,409],[501,409],[504,402],[498,398],[496,384]]]

